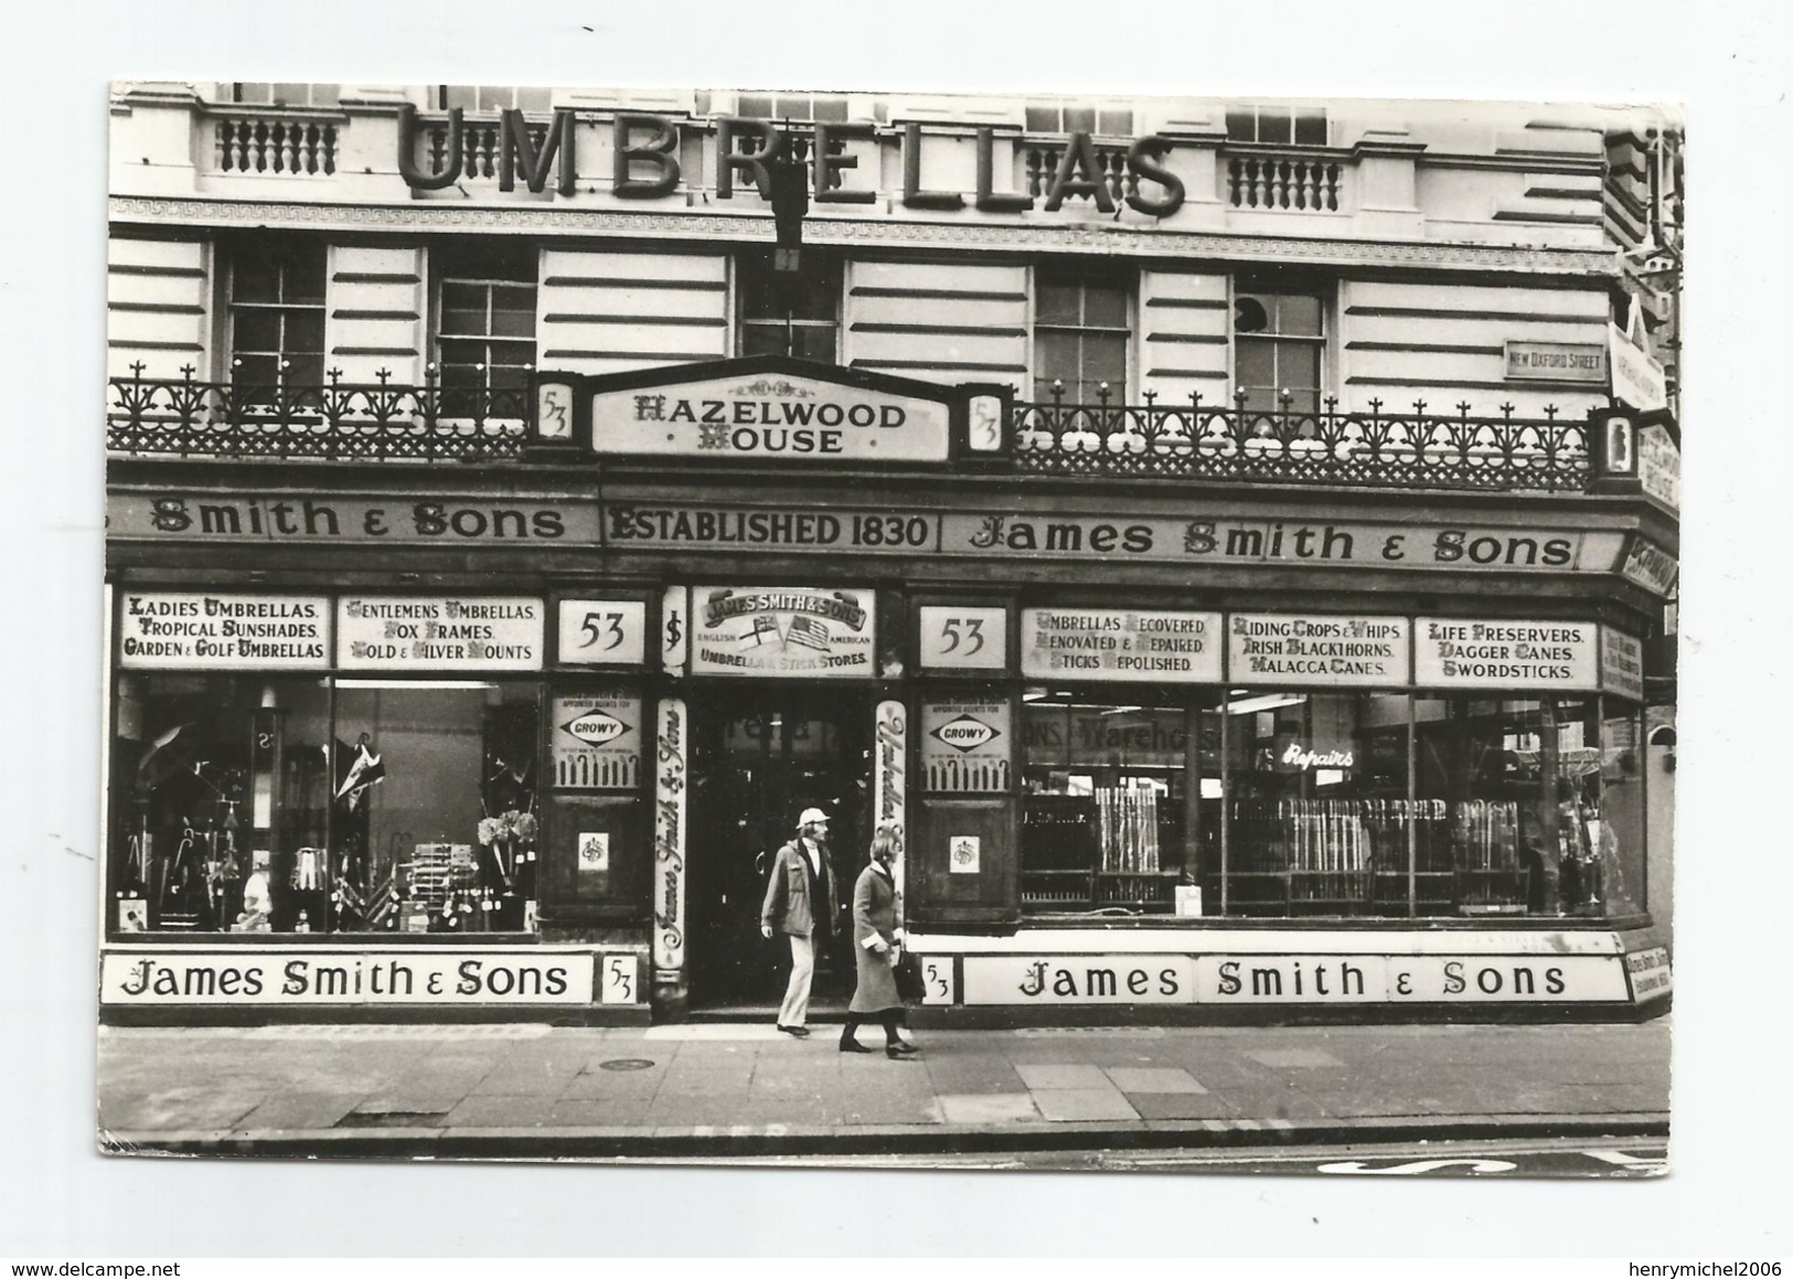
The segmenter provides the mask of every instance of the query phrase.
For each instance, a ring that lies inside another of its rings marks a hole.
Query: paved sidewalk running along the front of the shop
[[[106,1153],[610,1159],[1666,1135],[1639,1024],[99,1031]],[[882,1031],[861,1030],[879,1044]]]

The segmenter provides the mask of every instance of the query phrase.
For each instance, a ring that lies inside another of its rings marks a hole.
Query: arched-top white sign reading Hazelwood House
[[[941,400],[796,373],[714,377],[592,395],[599,454],[947,461]]]

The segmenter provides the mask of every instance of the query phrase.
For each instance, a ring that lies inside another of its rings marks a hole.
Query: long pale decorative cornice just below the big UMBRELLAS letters
[[[344,231],[491,231],[507,235],[610,235],[645,240],[769,244],[771,215],[633,213],[533,204],[301,204],[285,201],[163,199],[115,196],[113,224],[278,226]],[[979,249],[992,253],[1101,253],[1124,257],[1252,258],[1325,265],[1402,265],[1429,269],[1520,271],[1535,274],[1615,276],[1617,255],[1599,249],[1547,249],[1436,240],[1341,240],[1295,235],[1225,235],[1137,228],[1121,222],[957,224],[925,221],[848,221],[810,217],[810,244],[888,244]]]

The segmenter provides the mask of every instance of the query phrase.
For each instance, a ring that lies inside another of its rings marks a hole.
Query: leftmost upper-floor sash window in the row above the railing
[[[244,246],[224,274],[231,382],[278,400],[325,380],[325,246]]]

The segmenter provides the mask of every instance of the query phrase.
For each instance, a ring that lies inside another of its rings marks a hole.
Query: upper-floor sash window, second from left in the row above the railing
[[[473,240],[432,249],[432,258],[443,395],[484,398],[529,386],[536,361],[534,248]]]

